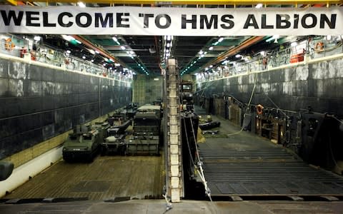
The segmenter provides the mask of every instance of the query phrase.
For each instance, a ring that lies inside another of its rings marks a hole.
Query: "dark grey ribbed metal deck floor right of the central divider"
[[[229,125],[224,121],[223,126]],[[342,176],[307,165],[251,133],[209,137],[207,143],[199,143],[199,154],[212,196],[343,195]]]

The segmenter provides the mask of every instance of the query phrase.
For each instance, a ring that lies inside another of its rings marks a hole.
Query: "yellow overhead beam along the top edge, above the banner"
[[[16,2],[14,0],[6,0],[8,2]],[[36,2],[61,2],[61,3],[77,3],[80,0],[34,0]],[[265,5],[297,5],[297,4],[343,4],[343,0],[265,0],[265,1],[258,1],[258,0],[81,0],[84,3],[96,3],[96,4],[149,4],[149,5],[205,5],[205,4],[212,4],[212,5],[257,5],[257,4],[265,4]],[[26,2],[24,0],[24,2]]]

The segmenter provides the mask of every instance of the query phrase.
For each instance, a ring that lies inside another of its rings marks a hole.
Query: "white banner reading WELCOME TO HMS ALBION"
[[[172,36],[343,35],[343,8],[2,6],[0,33]]]

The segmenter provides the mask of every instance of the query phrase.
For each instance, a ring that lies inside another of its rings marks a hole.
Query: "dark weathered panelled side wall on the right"
[[[204,93],[200,91],[198,95],[232,95],[248,103],[254,75],[203,83]],[[343,59],[258,73],[252,103],[277,108],[273,102],[282,109],[299,111],[311,106],[316,112],[343,116]]]

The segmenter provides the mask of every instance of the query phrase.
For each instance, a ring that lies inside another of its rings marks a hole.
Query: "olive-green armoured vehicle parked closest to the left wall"
[[[93,161],[100,145],[106,138],[109,123],[96,123],[93,126],[78,125],[69,134],[62,150],[63,159],[71,161]]]

